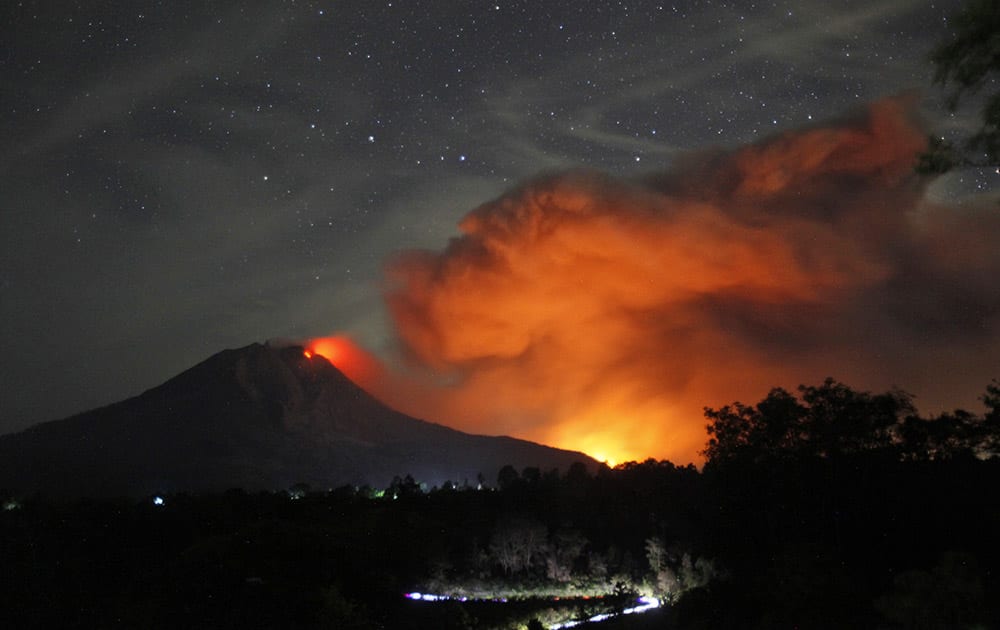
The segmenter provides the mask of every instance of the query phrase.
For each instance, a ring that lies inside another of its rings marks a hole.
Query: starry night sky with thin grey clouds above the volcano
[[[927,61],[958,6],[6,3],[0,432],[254,341],[388,357],[387,261],[539,173],[643,177],[913,90],[960,134]]]

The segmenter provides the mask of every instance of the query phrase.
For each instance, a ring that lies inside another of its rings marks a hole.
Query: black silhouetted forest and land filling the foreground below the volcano
[[[982,400],[925,418],[898,390],[775,389],[705,410],[701,471],[647,460],[434,488],[404,474],[384,489],[158,501],[8,494],[0,620],[524,628],[644,594],[668,605],[605,627],[998,627],[1000,383]]]

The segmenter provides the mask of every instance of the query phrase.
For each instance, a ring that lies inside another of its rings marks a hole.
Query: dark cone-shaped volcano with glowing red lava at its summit
[[[385,406],[297,346],[225,350],[119,403],[0,436],[0,490],[51,497],[385,487],[567,470],[583,453],[471,435]]]

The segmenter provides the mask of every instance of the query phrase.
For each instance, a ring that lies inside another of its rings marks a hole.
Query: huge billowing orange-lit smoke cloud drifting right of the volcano
[[[1000,374],[995,205],[934,207],[913,99],[643,180],[541,177],[388,270],[411,414],[699,461],[702,408],[832,375],[968,405]]]

